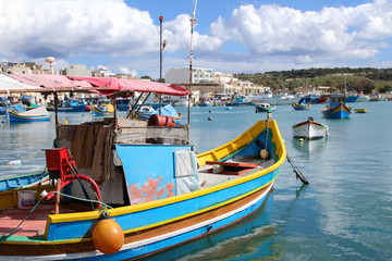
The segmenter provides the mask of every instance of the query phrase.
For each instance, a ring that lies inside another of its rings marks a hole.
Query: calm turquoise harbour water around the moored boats
[[[350,105],[367,108],[368,113],[328,120],[321,117],[323,104],[309,111],[278,107],[272,116],[287,154],[310,185],[302,185],[285,162],[273,194],[252,216],[146,260],[391,260],[392,102]],[[177,111],[186,122],[186,109]],[[328,139],[301,142],[293,138],[291,126],[308,116],[329,126]],[[253,107],[195,107],[192,141],[203,152],[265,117]],[[59,120],[73,124],[94,117],[60,113]],[[0,177],[42,170],[42,149],[52,147],[54,119],[29,124],[10,124],[3,116],[0,121]],[[8,165],[12,160],[22,164]]]

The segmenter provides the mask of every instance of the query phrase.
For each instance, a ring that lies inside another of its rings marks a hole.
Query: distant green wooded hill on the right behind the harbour
[[[272,89],[298,90],[298,87],[328,86],[331,91],[344,90],[364,94],[392,90],[392,69],[372,67],[335,67],[335,69],[303,69],[291,71],[271,71],[256,74],[235,74],[242,80],[250,80],[257,85],[269,86]]]

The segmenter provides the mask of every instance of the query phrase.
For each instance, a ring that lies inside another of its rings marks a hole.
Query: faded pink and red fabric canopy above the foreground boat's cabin
[[[79,90],[98,92],[100,95],[113,95],[117,91],[144,91],[171,96],[185,96],[189,94],[189,91],[181,87],[138,79],[49,74],[8,74],[8,76],[24,84],[52,89],[52,91]]]

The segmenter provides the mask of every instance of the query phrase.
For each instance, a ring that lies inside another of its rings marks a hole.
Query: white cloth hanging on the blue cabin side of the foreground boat
[[[195,151],[174,151],[176,195],[198,190],[200,184],[197,173],[197,159]]]

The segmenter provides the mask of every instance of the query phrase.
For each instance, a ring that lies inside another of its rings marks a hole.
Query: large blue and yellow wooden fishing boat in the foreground
[[[54,84],[70,77],[56,76]],[[37,80],[36,75],[27,77]],[[109,85],[103,77],[83,80],[91,84],[86,89],[108,88],[103,94],[110,95],[146,85],[131,79]],[[46,86],[51,87],[47,79]],[[189,95],[159,83],[146,90]],[[57,185],[0,192],[0,259],[125,260],[173,248],[254,213],[272,191],[286,159],[271,119],[200,154],[189,144],[189,124],[167,127],[108,117],[56,126],[56,148],[46,150],[46,159],[50,184]],[[17,208],[23,191],[34,195],[37,202],[28,201],[33,208]]]

